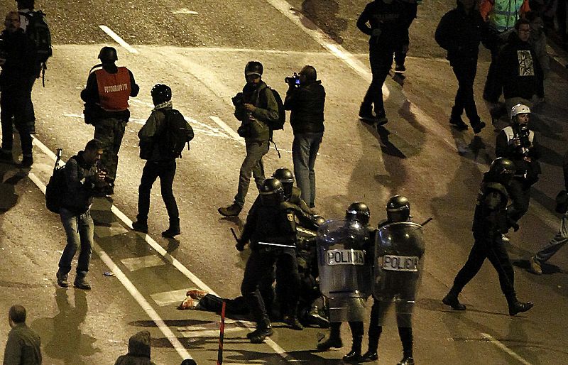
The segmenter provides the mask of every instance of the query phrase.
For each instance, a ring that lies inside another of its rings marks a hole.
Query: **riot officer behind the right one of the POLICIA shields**
[[[401,195],[388,200],[386,214],[387,220],[378,225],[376,234],[376,287],[368,325],[368,350],[360,360],[378,359],[383,318],[395,301],[398,335],[403,344],[403,359],[398,365],[410,365],[414,364],[412,312],[424,256],[422,226],[412,222],[410,202]]]

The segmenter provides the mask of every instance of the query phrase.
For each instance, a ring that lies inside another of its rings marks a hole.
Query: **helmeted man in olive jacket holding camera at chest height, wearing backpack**
[[[243,209],[251,173],[258,190],[265,179],[262,158],[268,153],[270,146],[271,129],[268,124],[278,121],[279,114],[274,94],[262,80],[263,70],[261,62],[248,62],[244,67],[246,85],[232,99],[234,115],[241,121],[237,133],[244,138],[246,156],[239,170],[239,187],[233,204],[217,209],[224,217],[236,217]]]

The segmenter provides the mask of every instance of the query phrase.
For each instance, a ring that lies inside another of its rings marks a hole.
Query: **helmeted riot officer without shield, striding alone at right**
[[[489,259],[499,276],[501,290],[507,299],[509,315],[526,312],[532,308],[530,302],[519,302],[515,294],[514,271],[501,234],[508,231],[506,207],[508,202],[507,185],[516,167],[513,161],[507,158],[496,158],[491,163],[488,173],[485,173],[477,196],[474,213],[475,243],[471,248],[464,267],[461,268],[454,279],[454,285],[442,302],[454,310],[465,310],[466,306],[459,303],[458,295],[464,286],[476,276],[486,258]]]

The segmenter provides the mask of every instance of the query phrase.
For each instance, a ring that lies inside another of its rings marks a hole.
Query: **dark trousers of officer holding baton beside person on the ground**
[[[268,313],[259,286],[267,276],[273,276],[274,264],[280,269],[286,285],[288,310],[295,314],[298,301],[297,285],[300,282],[297,273],[296,254],[293,249],[264,249],[251,251],[249,261],[246,261],[241,294],[249,305],[251,315],[256,322],[266,320]]]

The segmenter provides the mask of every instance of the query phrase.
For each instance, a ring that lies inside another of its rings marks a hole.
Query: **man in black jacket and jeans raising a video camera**
[[[317,79],[313,66],[302,68],[299,75],[286,77],[288,92],[284,109],[290,110],[290,125],[294,131],[292,158],[297,186],[302,200],[315,207],[315,159],[324,135],[325,89]]]

